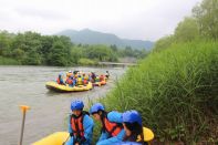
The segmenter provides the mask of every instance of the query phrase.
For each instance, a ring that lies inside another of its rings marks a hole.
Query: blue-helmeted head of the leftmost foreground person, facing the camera
[[[73,112],[74,115],[79,116],[81,115],[83,111],[84,104],[82,101],[73,101],[71,103],[71,111]]]

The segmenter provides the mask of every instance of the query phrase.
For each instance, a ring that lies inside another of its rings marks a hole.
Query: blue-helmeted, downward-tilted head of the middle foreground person
[[[90,108],[90,114],[93,115],[93,117],[96,121],[101,121],[102,114],[105,112],[104,106],[101,103],[95,103],[91,108]]]

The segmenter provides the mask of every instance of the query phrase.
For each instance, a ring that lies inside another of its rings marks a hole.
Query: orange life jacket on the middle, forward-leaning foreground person
[[[123,125],[121,123],[110,122],[107,118],[107,114],[102,118],[102,126],[103,132],[106,131],[110,137],[116,136],[123,128]]]

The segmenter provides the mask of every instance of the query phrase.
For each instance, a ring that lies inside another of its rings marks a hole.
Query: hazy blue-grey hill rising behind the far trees
[[[82,44],[116,44],[118,48],[131,46],[133,49],[152,49],[154,42],[152,41],[143,41],[143,40],[128,40],[128,39],[120,39],[115,34],[111,33],[102,33],[97,31],[92,31],[90,29],[84,29],[81,31],[75,30],[64,30],[58,35],[66,35],[71,38],[73,43],[82,43]]]

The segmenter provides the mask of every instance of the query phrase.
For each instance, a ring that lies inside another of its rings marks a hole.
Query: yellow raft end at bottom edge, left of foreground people
[[[66,142],[68,139],[69,139],[68,132],[56,132],[31,145],[63,145],[63,143]]]

